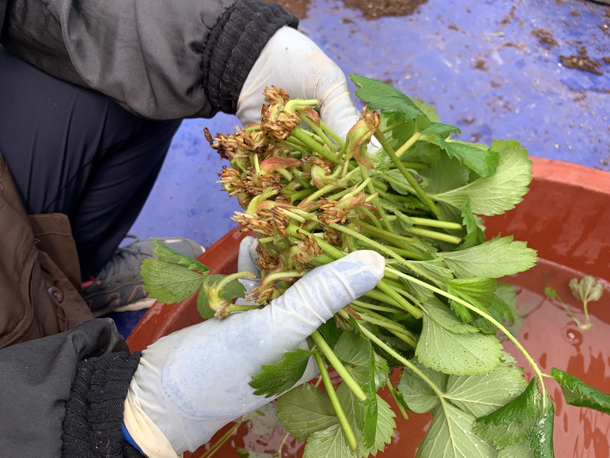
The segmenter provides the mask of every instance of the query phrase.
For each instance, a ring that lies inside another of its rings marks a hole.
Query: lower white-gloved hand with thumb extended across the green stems
[[[127,431],[151,458],[195,451],[224,424],[271,401],[248,385],[260,367],[294,351],[374,288],[383,272],[381,255],[354,252],[304,275],[265,308],[209,319],[161,338],[142,352],[132,379]],[[312,373],[308,368],[299,383]]]

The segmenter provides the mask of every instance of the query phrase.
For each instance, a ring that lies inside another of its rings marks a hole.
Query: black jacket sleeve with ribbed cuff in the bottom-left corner
[[[141,456],[123,440],[140,353],[112,319],[0,350],[0,457]]]

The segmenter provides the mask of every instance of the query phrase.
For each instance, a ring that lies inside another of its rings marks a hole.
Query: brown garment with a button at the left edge
[[[68,217],[27,215],[0,153],[0,348],[93,318]]]

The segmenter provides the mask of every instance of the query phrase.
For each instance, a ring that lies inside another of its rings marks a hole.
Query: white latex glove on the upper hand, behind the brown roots
[[[320,117],[337,135],[345,135],[359,117],[350,100],[343,71],[318,46],[292,27],[282,27],[267,42],[237,101],[237,117],[260,122],[265,86],[275,85],[292,98],[320,100]]]

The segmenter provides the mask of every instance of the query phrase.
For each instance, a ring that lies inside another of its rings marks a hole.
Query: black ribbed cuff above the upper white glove
[[[210,32],[203,56],[203,87],[213,114],[235,114],[243,83],[260,51],[281,27],[296,29],[299,20],[280,5],[239,0]]]

